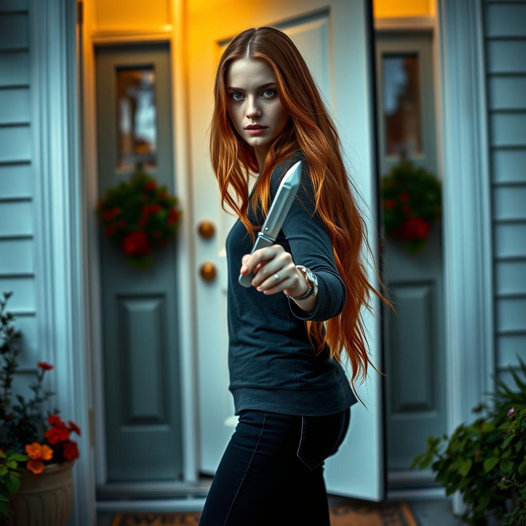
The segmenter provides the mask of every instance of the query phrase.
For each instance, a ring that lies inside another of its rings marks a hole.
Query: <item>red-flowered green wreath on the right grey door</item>
[[[401,239],[414,254],[429,237],[441,215],[440,181],[425,168],[416,168],[407,158],[382,177],[382,210],[386,234]]]

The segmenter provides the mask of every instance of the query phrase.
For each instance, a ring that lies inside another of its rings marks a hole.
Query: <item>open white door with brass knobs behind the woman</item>
[[[208,154],[208,127],[213,111],[214,73],[222,50],[244,29],[274,26],[287,33],[303,54],[336,117],[343,156],[365,203],[369,243],[377,244],[375,210],[376,168],[373,164],[373,108],[369,49],[372,22],[367,0],[269,0],[268,2],[190,2],[188,6],[189,104],[191,160],[194,180],[196,231],[210,221],[215,236],[196,236],[196,295],[198,327],[200,470],[214,474],[234,432],[237,417],[228,391],[227,269],[225,238],[236,217],[220,208],[216,179]],[[254,180],[254,179],[253,179]],[[215,268],[217,273],[198,272]],[[374,272],[370,281],[376,284]],[[372,299],[375,316],[365,311],[371,360],[382,369],[379,337],[379,302]],[[350,371],[349,376],[350,376]],[[338,453],[326,462],[330,493],[381,500],[383,488],[381,377],[372,368],[367,385],[359,389],[351,424]]]

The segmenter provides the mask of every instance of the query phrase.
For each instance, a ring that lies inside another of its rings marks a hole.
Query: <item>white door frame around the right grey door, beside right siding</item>
[[[447,433],[493,391],[491,181],[481,2],[438,0],[437,16],[379,18],[376,31],[433,34],[442,181]],[[441,492],[419,490],[419,498]],[[388,492],[407,498],[414,492]],[[454,511],[462,501],[457,493]]]

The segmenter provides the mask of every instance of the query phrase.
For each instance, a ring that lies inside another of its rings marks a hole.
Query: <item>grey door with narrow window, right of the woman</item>
[[[432,34],[376,35],[381,174],[399,161],[401,147],[416,166],[438,174]],[[383,225],[382,225],[383,230]],[[410,256],[386,238],[383,268],[397,315],[386,334],[386,426],[390,487],[432,482],[409,469],[430,434],[446,431],[446,372],[440,222],[427,246]],[[398,473],[397,473],[398,472]],[[397,482],[399,479],[399,482]]]

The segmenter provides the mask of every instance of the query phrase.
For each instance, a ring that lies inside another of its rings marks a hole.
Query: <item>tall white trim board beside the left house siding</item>
[[[46,388],[57,407],[78,424],[80,457],[73,467],[73,510],[68,524],[95,524],[95,484],[89,441],[89,362],[83,179],[77,113],[76,4],[32,0],[32,107],[35,110],[35,274],[38,345],[55,369]]]

